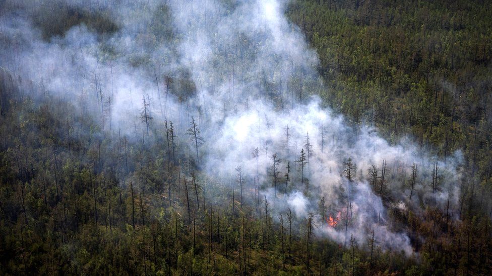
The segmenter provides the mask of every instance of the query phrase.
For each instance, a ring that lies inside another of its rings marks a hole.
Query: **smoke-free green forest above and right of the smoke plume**
[[[490,190],[492,3],[299,0],[287,14],[317,50],[327,105],[394,142],[462,149]]]

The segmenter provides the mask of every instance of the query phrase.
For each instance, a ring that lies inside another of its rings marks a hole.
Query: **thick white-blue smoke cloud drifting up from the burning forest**
[[[0,66],[23,79],[25,93],[37,89],[72,101],[76,112],[93,116],[105,131],[119,130],[136,141],[145,128],[140,119],[145,99],[154,128],[174,122],[191,158],[196,145],[185,137],[193,118],[205,141],[195,162],[207,177],[237,190],[241,167],[245,189],[260,187],[261,200],[277,213],[290,208],[299,220],[317,214],[318,235],[341,244],[351,234],[363,244],[374,230],[383,248],[411,254],[405,229],[391,224],[388,210],[443,209],[448,196],[451,209],[457,207],[459,152],[444,162],[407,140],[390,145],[376,129],[354,128],[322,108],[315,96],[325,89],[316,53],[285,18],[286,1],[93,2],[51,5],[102,11],[114,20],[116,32],[99,34],[81,23],[45,38],[32,20],[43,2],[2,4]],[[351,179],[345,172],[349,158]],[[376,165],[381,176],[383,162],[384,189],[395,206],[385,205],[370,185],[368,170]],[[417,179],[410,192],[414,163]],[[318,212],[321,197],[328,207],[324,216],[338,220],[335,227],[321,226],[326,219]]]

